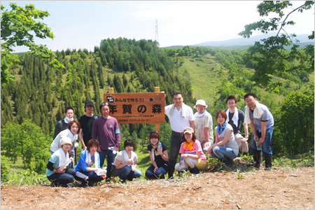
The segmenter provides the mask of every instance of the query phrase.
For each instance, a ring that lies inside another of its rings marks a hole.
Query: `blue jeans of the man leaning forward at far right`
[[[272,132],[274,132],[274,127],[270,127],[266,130],[265,141],[262,143],[261,150],[265,157],[272,156]],[[258,132],[258,130],[256,130],[256,134],[259,138],[261,137],[261,132]],[[260,153],[260,151],[257,150],[256,141],[253,139],[253,133],[251,133],[251,152],[253,155]]]

